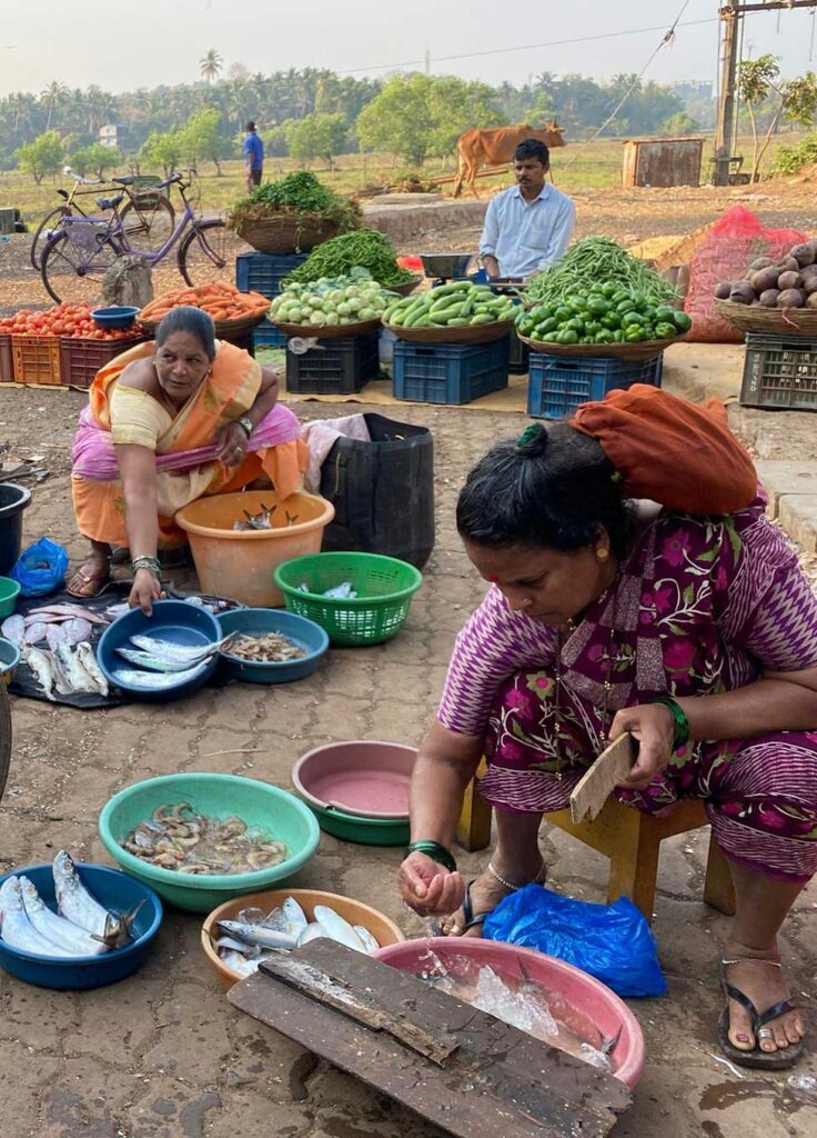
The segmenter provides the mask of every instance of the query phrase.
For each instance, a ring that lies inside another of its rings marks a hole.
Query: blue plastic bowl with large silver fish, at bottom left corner
[[[93,893],[100,905],[114,913],[127,913],[143,901],[133,923],[135,939],[123,948],[111,949],[102,956],[77,956],[73,959],[39,956],[24,953],[0,940],[0,966],[18,980],[39,988],[58,988],[74,991],[81,988],[103,988],[124,980],[141,965],[150,943],[161,924],[161,901],[152,889],[130,877],[120,869],[109,869],[105,865],[76,863],[83,884]],[[50,909],[57,912],[51,863],[30,865],[25,869],[12,869],[0,877],[0,885],[7,877],[25,874]]]

